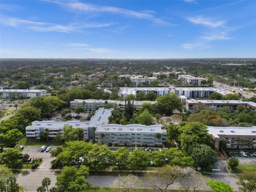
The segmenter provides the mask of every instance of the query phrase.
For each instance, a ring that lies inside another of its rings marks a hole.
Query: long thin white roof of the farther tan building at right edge
[[[241,101],[241,100],[195,100],[195,99],[190,99],[190,100],[186,100],[186,102],[188,103],[204,103],[204,104],[208,104],[208,103],[217,103],[217,104],[226,104],[226,103],[230,103],[230,104],[250,104],[251,106],[255,106],[256,107],[256,103],[252,102],[252,101]]]

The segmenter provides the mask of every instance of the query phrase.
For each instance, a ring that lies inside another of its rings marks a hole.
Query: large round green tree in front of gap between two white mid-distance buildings
[[[173,110],[182,111],[182,102],[175,93],[165,94],[157,98],[157,108],[162,114],[172,115]]]

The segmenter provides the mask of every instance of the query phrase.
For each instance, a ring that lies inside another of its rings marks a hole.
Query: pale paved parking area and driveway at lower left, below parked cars
[[[41,152],[41,147],[27,147],[25,146],[22,150],[22,154],[27,153],[32,159],[33,158],[43,158],[41,165],[38,167],[39,169],[51,169],[51,161],[54,159],[51,157],[49,152]],[[54,149],[55,147],[52,147]],[[52,150],[51,149],[51,150]]]

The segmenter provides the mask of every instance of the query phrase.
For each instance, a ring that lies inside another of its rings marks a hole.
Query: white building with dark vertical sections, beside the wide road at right
[[[233,93],[225,89],[217,89],[213,87],[175,87],[172,91],[177,95],[185,95],[186,98],[209,97],[213,92],[217,92],[222,95]]]

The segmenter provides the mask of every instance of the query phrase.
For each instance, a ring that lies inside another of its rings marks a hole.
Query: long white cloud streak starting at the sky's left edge
[[[61,32],[61,33],[82,33],[83,29],[85,28],[101,28],[101,27],[108,27],[112,25],[116,25],[116,23],[109,22],[109,23],[71,23],[69,25],[58,25],[55,23],[49,23],[49,22],[36,22],[36,21],[30,21],[20,18],[14,18],[14,17],[8,17],[5,15],[0,15],[0,23],[7,26],[12,27],[25,27],[28,29],[32,29],[35,31],[55,31],[55,32]]]

